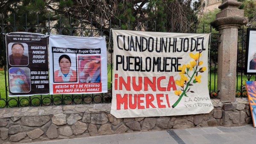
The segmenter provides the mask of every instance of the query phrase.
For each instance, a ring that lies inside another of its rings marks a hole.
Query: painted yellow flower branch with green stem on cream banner
[[[206,70],[206,67],[199,68],[199,66],[203,64],[203,61],[199,61],[199,58],[202,56],[202,51],[196,54],[190,53],[189,56],[194,60],[187,65],[182,65],[182,67],[179,66],[179,70],[181,71],[180,80],[175,80],[175,83],[181,87],[181,90],[174,91],[174,94],[178,95],[179,99],[172,105],[172,108],[177,106],[183,96],[188,97],[188,92],[194,93],[194,91],[190,90],[190,86],[193,86],[195,83],[200,83],[202,76],[198,75],[198,72],[202,73]]]

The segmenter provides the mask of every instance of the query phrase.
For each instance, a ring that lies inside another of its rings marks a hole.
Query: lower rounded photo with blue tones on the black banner
[[[9,87],[11,93],[28,93],[31,90],[30,69],[12,67],[9,69]]]

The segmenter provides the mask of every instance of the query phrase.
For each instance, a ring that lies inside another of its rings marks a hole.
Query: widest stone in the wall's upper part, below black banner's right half
[[[21,117],[21,124],[27,126],[42,126],[50,120],[49,116]]]

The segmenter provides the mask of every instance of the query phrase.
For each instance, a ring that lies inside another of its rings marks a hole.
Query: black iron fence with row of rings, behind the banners
[[[36,15],[36,25],[31,26],[27,22],[27,15],[24,15],[25,25],[18,25],[15,23],[15,15],[13,15],[13,23],[6,23],[2,19],[0,27],[0,41],[1,41],[1,53],[0,58],[2,61],[3,69],[0,71],[0,108],[9,107],[27,107],[27,106],[48,106],[48,105],[69,105],[69,104],[91,104],[91,103],[109,103],[112,99],[112,36],[110,34],[111,28],[121,29],[122,21],[119,20],[118,25],[114,25],[111,19],[104,21],[105,26],[108,28],[95,28],[93,27],[92,20],[86,21],[86,24],[82,19],[78,20],[78,25],[74,27],[71,23],[67,26],[62,24],[61,18],[59,20],[47,20],[45,25],[39,24],[38,15]],[[71,19],[70,19],[71,21]],[[148,24],[153,24],[155,29],[148,29]],[[212,33],[212,27],[210,31],[205,31],[205,25],[202,26],[201,33]],[[188,26],[188,28],[181,32],[197,33],[197,25]],[[128,29],[130,29],[130,21],[128,21]],[[138,31],[156,31],[156,22],[150,21],[146,23],[137,23],[137,26],[133,30]],[[36,32],[41,34],[63,34],[63,35],[75,35],[75,36],[106,36],[107,48],[108,48],[108,93],[103,94],[81,94],[81,95],[35,95],[35,96],[22,96],[22,97],[9,97],[8,96],[8,77],[6,69],[6,57],[5,57],[5,35],[10,32]],[[254,80],[255,76],[244,75],[244,61],[245,61],[245,43],[246,43],[246,32],[244,27],[239,31],[238,37],[238,58],[237,58],[237,79],[236,79],[236,96],[246,96],[246,90],[244,88],[245,80]],[[218,64],[218,37],[219,34],[211,34],[210,40],[210,51],[209,51],[209,91],[211,98],[216,98],[218,95],[217,91],[217,64]]]

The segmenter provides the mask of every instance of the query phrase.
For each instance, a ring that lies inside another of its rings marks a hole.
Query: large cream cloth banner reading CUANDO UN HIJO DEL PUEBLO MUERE
[[[210,34],[112,32],[112,115],[190,115],[213,109],[208,90]]]

